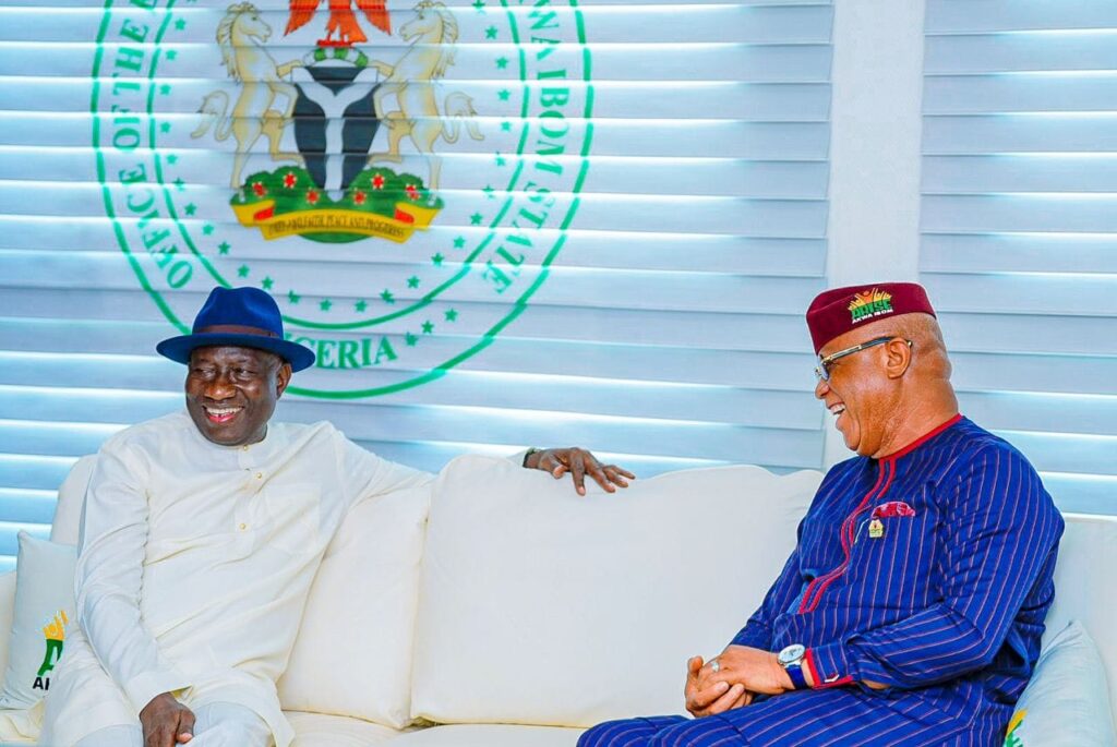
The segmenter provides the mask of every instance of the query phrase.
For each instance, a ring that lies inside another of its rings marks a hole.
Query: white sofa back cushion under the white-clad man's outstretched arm
[[[350,510],[315,576],[279,680],[285,709],[408,724],[429,504],[428,486]]]

